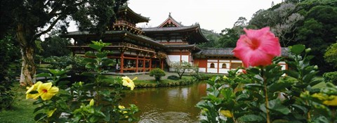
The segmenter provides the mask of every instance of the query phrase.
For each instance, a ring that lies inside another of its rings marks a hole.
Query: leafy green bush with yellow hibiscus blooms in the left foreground
[[[50,78],[46,83],[38,82],[29,88],[27,98],[37,99],[33,104],[40,105],[34,110],[39,113],[34,117],[37,122],[119,122],[121,120],[136,122],[133,116],[138,112],[136,105],[125,108],[119,105],[122,89],[134,87],[133,80],[120,77],[107,78],[101,67],[110,65],[107,51],[102,48],[110,45],[102,41],[93,41],[89,45],[96,52],[87,52],[86,68],[94,72],[83,72],[81,75],[94,78],[89,82],[70,82],[66,70],[49,70],[37,77]],[[42,85],[48,84],[45,89]],[[53,87],[51,86],[53,85]],[[41,91],[41,89],[43,91]],[[44,93],[49,93],[44,96]],[[39,98],[41,97],[41,98]]]

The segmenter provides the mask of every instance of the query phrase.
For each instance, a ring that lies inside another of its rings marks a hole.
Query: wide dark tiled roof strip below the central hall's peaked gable
[[[142,28],[142,30],[147,32],[171,32],[171,31],[185,31],[198,28],[199,25],[183,26],[183,27],[150,27]]]

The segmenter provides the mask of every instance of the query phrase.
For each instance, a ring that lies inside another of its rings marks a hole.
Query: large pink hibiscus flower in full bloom
[[[244,67],[265,66],[272,64],[272,58],[281,55],[279,39],[270,32],[269,27],[260,30],[246,30],[237,40],[237,47],[232,51],[242,60]]]

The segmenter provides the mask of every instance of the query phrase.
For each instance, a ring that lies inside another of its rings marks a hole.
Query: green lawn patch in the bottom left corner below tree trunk
[[[34,114],[33,111],[37,105],[33,105],[34,100],[26,100],[26,89],[19,86],[19,83],[15,83],[12,88],[14,92],[14,102],[10,110],[2,110],[0,112],[1,123],[33,123]]]

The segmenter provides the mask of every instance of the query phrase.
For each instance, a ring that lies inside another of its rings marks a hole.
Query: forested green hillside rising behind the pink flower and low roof
[[[324,61],[326,48],[337,39],[337,0],[288,0],[256,11],[251,20],[239,18],[232,28],[224,29],[220,36],[203,31],[209,42],[201,48],[235,47],[243,28],[260,29],[270,27],[279,37],[282,47],[305,44],[315,56],[312,62],[321,72],[333,71],[332,65]],[[216,38],[215,38],[216,37]]]

